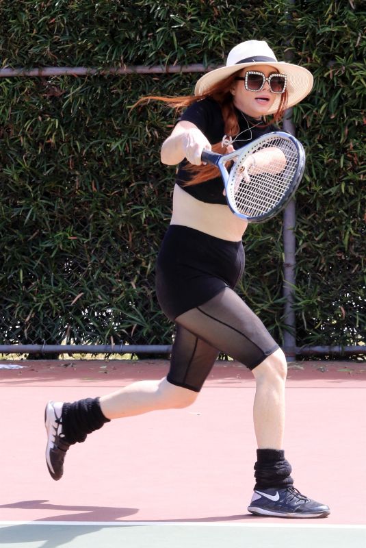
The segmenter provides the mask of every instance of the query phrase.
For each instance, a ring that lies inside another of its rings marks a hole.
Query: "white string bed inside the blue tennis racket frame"
[[[248,155],[274,147],[280,149],[285,155],[285,167],[283,162],[274,160],[267,166],[265,172],[256,172],[255,168],[252,173],[244,170],[244,162]],[[253,148],[235,164],[230,173],[231,201],[238,212],[248,217],[261,216],[276,207],[285,197],[297,170],[298,151],[291,140],[275,138],[266,142],[265,145]]]

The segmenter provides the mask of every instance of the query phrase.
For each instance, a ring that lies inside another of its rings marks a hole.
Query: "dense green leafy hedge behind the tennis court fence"
[[[2,66],[222,64],[266,39],[315,76],[293,109],[307,152],[297,194],[297,344],[365,332],[366,55],[361,2],[219,0],[0,3]],[[142,95],[192,92],[196,74],[0,79],[1,343],[169,344],[154,264],[174,168],[175,114]],[[281,219],[248,230],[239,287],[281,341]],[[365,338],[363,338],[364,340]]]

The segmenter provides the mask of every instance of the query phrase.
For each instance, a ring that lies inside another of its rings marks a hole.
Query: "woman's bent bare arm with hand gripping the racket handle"
[[[184,158],[200,166],[202,150],[211,150],[211,145],[204,134],[192,122],[181,121],[174,127],[170,136],[161,147],[160,158],[163,164],[175,166]]]

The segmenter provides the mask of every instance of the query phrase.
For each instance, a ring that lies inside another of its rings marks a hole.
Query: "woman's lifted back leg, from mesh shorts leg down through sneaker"
[[[111,419],[184,408],[194,403],[217,353],[211,345],[178,325],[168,379],[133,382],[101,398],[73,403],[50,401],[45,410],[45,425],[46,460],[51,477],[55,480],[62,477],[70,445],[85,441],[88,434]]]

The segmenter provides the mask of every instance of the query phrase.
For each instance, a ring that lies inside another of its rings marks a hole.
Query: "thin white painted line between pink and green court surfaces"
[[[86,525],[86,526],[95,526],[95,527],[131,527],[135,525],[181,525],[182,527],[274,527],[277,528],[286,528],[286,529],[358,529],[366,530],[366,525],[345,525],[339,523],[228,523],[223,521],[218,521],[211,523],[209,521],[200,521],[200,522],[182,522],[182,521],[0,521],[0,527],[9,527],[11,525]]]

